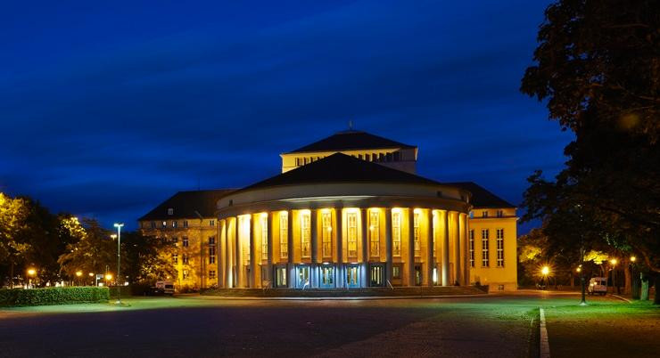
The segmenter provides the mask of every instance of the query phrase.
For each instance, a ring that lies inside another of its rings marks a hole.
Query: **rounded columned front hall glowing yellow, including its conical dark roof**
[[[337,167],[342,183],[328,175]],[[469,285],[470,196],[334,154],[219,199],[219,286]]]

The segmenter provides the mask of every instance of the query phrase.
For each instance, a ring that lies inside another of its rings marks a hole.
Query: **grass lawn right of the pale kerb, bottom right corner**
[[[588,300],[589,301],[589,300]],[[547,306],[550,355],[556,357],[656,357],[660,307],[650,301]]]

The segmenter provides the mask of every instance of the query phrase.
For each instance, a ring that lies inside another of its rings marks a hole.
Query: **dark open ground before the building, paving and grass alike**
[[[656,356],[660,310],[572,295],[384,300],[131,298],[0,309],[0,356]],[[611,333],[610,333],[611,332]],[[631,349],[633,349],[631,351]]]

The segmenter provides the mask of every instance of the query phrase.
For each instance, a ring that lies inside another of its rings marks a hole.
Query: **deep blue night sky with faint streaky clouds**
[[[0,191],[106,226],[276,175],[350,119],[516,204],[571,140],[518,91],[547,1],[12,3]]]

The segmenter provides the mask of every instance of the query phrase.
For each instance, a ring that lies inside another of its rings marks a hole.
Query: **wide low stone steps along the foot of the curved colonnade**
[[[488,292],[487,286],[436,286],[360,289],[204,289],[205,296],[222,297],[425,297],[466,296]]]

